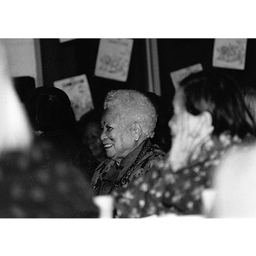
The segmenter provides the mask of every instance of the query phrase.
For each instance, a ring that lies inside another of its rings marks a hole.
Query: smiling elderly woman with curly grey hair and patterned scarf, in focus
[[[137,179],[165,155],[157,145],[150,143],[157,113],[143,93],[112,90],[103,108],[101,141],[108,160],[96,168],[92,177],[96,195],[108,195]]]

